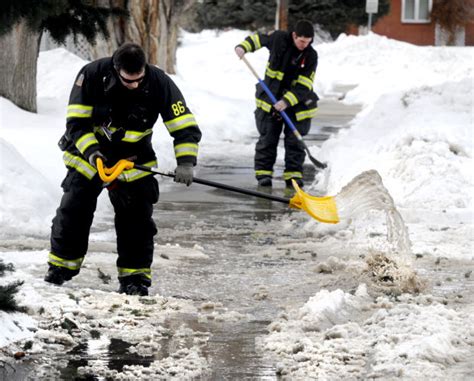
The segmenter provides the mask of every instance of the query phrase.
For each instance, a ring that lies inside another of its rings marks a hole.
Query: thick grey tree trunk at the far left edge
[[[24,22],[0,37],[0,96],[36,112],[36,65],[41,34]]]

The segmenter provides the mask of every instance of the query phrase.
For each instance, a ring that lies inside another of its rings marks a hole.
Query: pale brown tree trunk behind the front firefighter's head
[[[94,58],[110,56],[124,42],[143,47],[148,62],[170,74],[176,73],[178,20],[194,0],[129,0],[128,20],[109,21],[110,39],[92,47]],[[124,5],[124,0],[100,0],[102,6]]]

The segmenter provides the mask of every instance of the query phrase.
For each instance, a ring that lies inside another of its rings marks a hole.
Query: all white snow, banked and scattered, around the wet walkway
[[[237,165],[243,157],[253,155],[253,144],[248,141],[255,134],[255,79],[233,51],[247,34],[235,30],[183,33],[178,73],[173,78],[203,130],[201,163],[224,160]],[[334,95],[338,85],[353,85],[345,102],[364,105],[350,129],[321,149],[310,147],[315,156],[331,165],[328,193],[335,195],[356,175],[375,169],[408,225],[413,253],[471,261],[472,265],[474,48],[418,47],[375,34],[342,35],[315,48],[320,60],[315,87],[320,97]],[[262,75],[266,58],[264,50],[248,55]],[[63,49],[41,52],[38,114],[0,98],[1,240],[21,241],[49,234],[65,174],[56,143],[64,131],[72,82],[85,63]],[[171,139],[161,121],[155,129],[153,143],[160,167],[173,169]],[[308,191],[311,193],[311,187]],[[101,201],[98,218],[110,208]],[[282,227],[291,222],[283,221]],[[318,225],[307,221],[306,229],[328,229]],[[356,242],[351,240],[361,242],[367,233],[364,221],[353,221],[349,230],[333,239],[346,240],[350,246]],[[71,336],[53,336],[59,315],[69,316],[78,325],[90,324],[87,317],[93,316],[107,327],[110,337],[114,337],[114,330],[130,328],[121,315],[125,312],[122,304],[126,298],[128,310],[133,309],[140,303],[137,298],[115,294],[113,288],[110,292],[91,290],[86,284],[84,289],[66,285],[69,296],[56,294],[54,287],[42,282],[46,255],[45,251],[0,254],[0,259],[17,268],[0,278],[0,284],[25,280],[20,304],[30,315],[42,309],[42,314],[51,316],[49,327],[37,327],[34,318],[26,314],[0,312],[0,348],[41,335],[49,337],[51,345],[70,346]],[[199,247],[172,247],[171,255],[208,258]],[[110,262],[106,254],[90,260],[99,267]],[[92,267],[87,271],[92,272]],[[143,331],[153,324],[156,328],[174,309],[192,310],[191,303],[159,295],[150,299],[161,307],[144,318]],[[113,307],[115,304],[121,306]],[[114,308],[118,312],[111,316],[101,313]],[[282,375],[293,379],[356,379],[366,375],[363,364],[368,357],[373,378],[440,379],[450,366],[466,356],[473,357],[472,305],[469,310],[470,316],[469,311],[458,311],[425,294],[403,294],[398,303],[388,297],[374,302],[362,283],[354,294],[323,289],[305,305],[275,317],[269,334],[259,339],[259,347],[278,359]],[[231,319],[232,313],[229,316]],[[129,334],[134,331],[139,330]],[[135,334],[130,339],[137,343],[145,341],[152,346],[156,339],[147,339],[142,331]],[[108,338],[102,340],[92,341],[91,348],[95,345],[100,350]],[[47,340],[42,342],[46,345]],[[31,350],[43,349],[34,346]],[[177,367],[193,377],[206,366],[199,351],[189,350],[152,367],[163,368],[154,369],[157,374]],[[100,364],[98,367],[96,372],[107,376],[100,373]],[[133,367],[127,372],[121,377],[140,374]]]

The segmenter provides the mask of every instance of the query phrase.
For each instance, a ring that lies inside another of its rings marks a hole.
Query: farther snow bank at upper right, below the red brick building
[[[474,75],[472,47],[420,47],[370,33],[340,35],[334,43],[320,44],[316,49],[317,88],[331,93],[337,85],[357,85],[346,101],[369,107],[381,94]]]

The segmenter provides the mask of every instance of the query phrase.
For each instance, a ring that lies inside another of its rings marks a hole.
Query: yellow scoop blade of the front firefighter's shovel
[[[290,199],[290,207],[303,209],[314,219],[327,224],[337,224],[339,216],[337,214],[336,200],[332,196],[316,197],[311,196],[292,180],[296,194]]]

